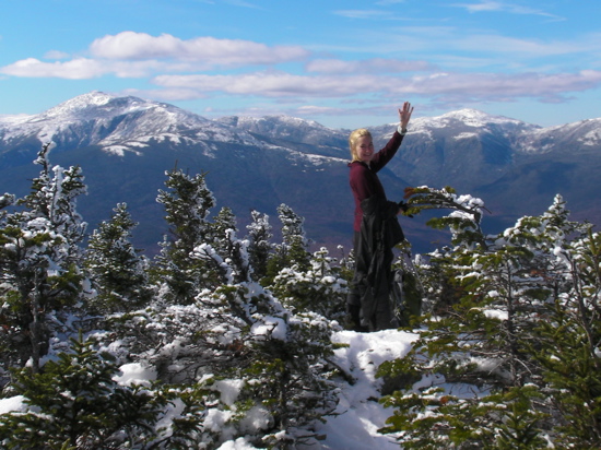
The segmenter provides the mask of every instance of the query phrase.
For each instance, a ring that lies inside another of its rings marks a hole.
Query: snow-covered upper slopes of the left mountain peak
[[[228,127],[173,105],[101,92],[81,95],[36,116],[0,118],[0,143],[7,147],[35,137],[40,143],[55,142],[61,151],[99,145],[117,154],[140,153],[151,142],[163,141],[256,143],[246,133],[238,135]]]

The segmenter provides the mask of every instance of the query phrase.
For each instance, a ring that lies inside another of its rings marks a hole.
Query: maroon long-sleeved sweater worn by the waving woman
[[[355,220],[353,223],[355,232],[361,230],[361,221],[363,218],[361,202],[372,196],[378,196],[386,200],[386,193],[377,173],[392,159],[402,141],[403,137],[398,131],[394,131],[394,134],[392,134],[386,146],[374,155],[369,166],[361,161],[349,164],[351,168],[350,183],[355,199]]]

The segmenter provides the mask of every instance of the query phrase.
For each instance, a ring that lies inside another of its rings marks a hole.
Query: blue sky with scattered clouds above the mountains
[[[15,0],[0,115],[90,91],[208,118],[332,128],[475,108],[554,126],[601,117],[599,0]]]

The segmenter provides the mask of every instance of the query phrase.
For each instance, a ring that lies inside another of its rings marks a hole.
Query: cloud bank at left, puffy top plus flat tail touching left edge
[[[168,34],[122,32],[95,39],[92,58],[40,61],[26,58],[0,68],[0,73],[24,78],[94,79],[103,75],[146,78],[156,73],[198,72],[215,68],[270,66],[304,60],[309,51],[297,46],[273,46],[239,39],[198,37],[182,40]],[[68,55],[52,50],[47,59]]]

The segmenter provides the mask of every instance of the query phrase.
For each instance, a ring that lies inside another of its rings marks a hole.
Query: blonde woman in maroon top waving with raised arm
[[[377,173],[394,156],[413,114],[409,102],[399,109],[399,126],[384,149],[374,152],[372,134],[358,129],[349,137],[350,185],[355,200],[355,276],[347,310],[357,331],[393,328],[390,303],[392,248],[403,239],[397,215],[400,203],[388,201]]]

